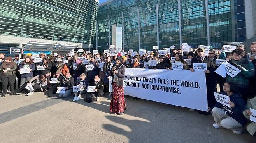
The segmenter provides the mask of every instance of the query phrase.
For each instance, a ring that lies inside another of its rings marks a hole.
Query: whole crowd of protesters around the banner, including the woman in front
[[[49,88],[53,88],[52,93],[56,94],[59,88],[64,87],[65,93],[59,94],[59,97],[74,95],[73,101],[78,101],[81,95],[85,94],[85,101],[93,102],[99,101],[104,93],[109,92],[109,81],[112,81],[113,90],[112,93],[108,93],[109,96],[112,94],[110,112],[122,115],[126,110],[123,88],[125,68],[173,70],[172,63],[182,63],[184,70],[194,72],[194,63],[206,63],[207,70],[204,73],[209,110],[208,112],[199,111],[199,113],[205,115],[212,113],[216,122],[213,124],[214,128],[230,129],[236,134],[241,134],[245,125],[249,123],[247,130],[255,136],[256,123],[248,121],[248,118],[252,115],[249,109],[256,109],[256,42],[251,43],[249,53],[244,49],[244,45],[240,44],[231,53],[225,53],[223,49],[213,49],[211,46],[208,54],[202,47],[183,52],[182,46],[180,49],[171,49],[170,53],[165,55],[159,55],[158,50],[135,56],[131,56],[129,52],[124,55],[117,53],[114,56],[110,56],[109,53],[86,54],[85,52],[75,53],[73,56],[61,54],[47,56],[41,53],[38,58],[42,58],[42,63],[34,63],[31,54],[23,55],[24,61],[19,63],[19,55],[14,55],[12,59],[0,53],[1,96],[5,97],[9,87],[9,95],[15,94],[16,87],[23,95],[28,96],[33,95],[34,91],[47,92]],[[191,59],[191,63],[188,59]],[[228,60],[228,63],[241,72],[235,77],[229,75],[225,78],[221,77],[214,72],[218,68],[217,59]],[[149,60],[156,60],[157,64],[149,66],[147,65]],[[87,65],[93,66],[88,68]],[[45,70],[37,70],[39,66],[43,66]],[[20,74],[21,69],[24,68],[29,68],[29,73]],[[51,83],[51,78],[57,78],[57,83]],[[27,85],[31,85],[33,91],[28,90]],[[80,92],[73,92],[72,88],[76,85],[81,86]],[[230,96],[231,107],[216,102],[214,92],[217,92],[218,85],[221,94]],[[95,86],[94,92],[89,92],[88,86]],[[133,97],[133,99],[138,98]]]

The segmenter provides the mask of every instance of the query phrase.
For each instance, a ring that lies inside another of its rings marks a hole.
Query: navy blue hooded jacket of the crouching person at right
[[[226,92],[220,92],[220,94],[228,96]],[[246,102],[243,99],[243,97],[240,94],[233,93],[230,95],[230,101],[235,104],[235,107],[228,107],[226,105],[223,105],[219,102],[217,102],[214,107],[222,108],[226,111],[226,114],[233,119],[235,119],[238,123],[240,123],[242,126],[245,126],[247,119],[243,115],[243,111],[245,109]]]

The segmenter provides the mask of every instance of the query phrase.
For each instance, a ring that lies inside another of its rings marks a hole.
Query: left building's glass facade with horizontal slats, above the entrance
[[[93,44],[98,0],[0,0],[0,35]]]

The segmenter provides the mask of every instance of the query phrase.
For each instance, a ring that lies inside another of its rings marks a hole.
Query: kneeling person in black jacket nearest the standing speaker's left
[[[92,82],[90,84],[90,86],[95,86],[94,91],[95,92],[87,92],[87,95],[89,94],[93,94],[95,96],[95,101],[99,101],[99,97],[103,96],[104,92],[104,83],[102,82],[102,80],[100,79],[99,75],[95,75],[94,77],[94,82]],[[87,89],[88,91],[88,89]]]

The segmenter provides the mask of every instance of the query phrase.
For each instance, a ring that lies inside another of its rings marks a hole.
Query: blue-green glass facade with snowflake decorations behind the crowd
[[[220,48],[223,42],[246,40],[237,19],[244,0],[109,0],[97,16],[95,48],[112,44],[112,25],[123,27],[123,49],[152,50],[181,43]],[[245,28],[245,27],[242,27]],[[241,36],[242,35],[242,36]]]

